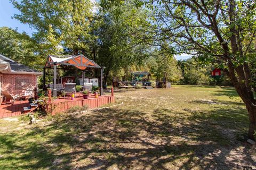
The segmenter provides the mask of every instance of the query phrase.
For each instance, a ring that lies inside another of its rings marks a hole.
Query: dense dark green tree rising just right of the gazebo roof
[[[100,16],[97,62],[105,66],[103,84],[106,86],[110,73],[118,73],[122,68],[145,60],[150,46],[136,37],[142,36],[138,30],[147,29],[141,27],[147,22],[143,8],[127,2],[118,7],[102,9]]]

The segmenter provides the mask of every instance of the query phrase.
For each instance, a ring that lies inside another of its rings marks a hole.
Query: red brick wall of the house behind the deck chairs
[[[25,89],[17,90],[16,79],[29,79],[29,88],[37,87],[37,76],[29,74],[1,74],[2,75],[2,90],[9,91],[11,95],[21,95]]]

